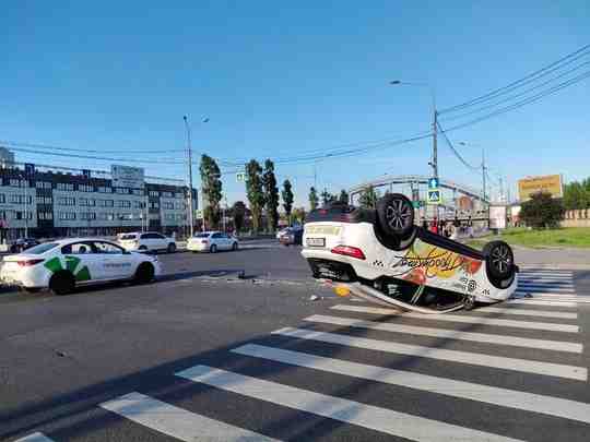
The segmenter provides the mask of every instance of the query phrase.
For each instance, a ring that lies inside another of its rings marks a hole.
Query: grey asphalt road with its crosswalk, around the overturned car
[[[0,440],[590,439],[586,271],[433,319],[335,298],[269,241],[161,260],[152,285],[0,295]]]

